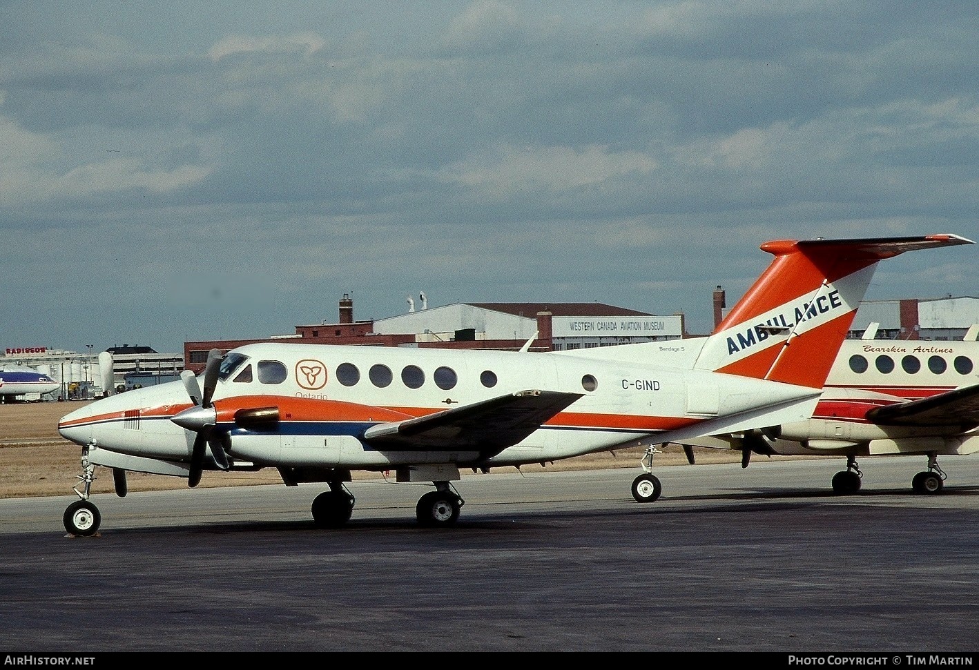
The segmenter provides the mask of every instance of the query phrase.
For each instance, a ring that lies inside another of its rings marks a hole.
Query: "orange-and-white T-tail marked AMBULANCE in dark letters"
[[[781,240],[774,258],[708,337],[694,368],[822,388],[877,263],[957,235],[862,240]]]

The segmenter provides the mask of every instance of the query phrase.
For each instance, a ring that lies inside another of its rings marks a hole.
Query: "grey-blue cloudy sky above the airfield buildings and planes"
[[[713,325],[776,239],[979,241],[979,3],[0,2],[0,345],[453,302]],[[979,246],[868,299],[979,295]]]

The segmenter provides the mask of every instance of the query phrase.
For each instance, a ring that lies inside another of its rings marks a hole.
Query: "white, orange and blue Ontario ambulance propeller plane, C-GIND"
[[[450,526],[460,469],[553,462],[809,420],[877,263],[972,244],[956,235],[775,241],[768,269],[707,337],[577,351],[405,349],[264,342],[212,350],[201,378],[113,395],[72,412],[83,491],[64,515],[74,535],[101,522],[96,466],[187,477],[278,469],[287,486],[325,482],[319,527],[350,520],[351,470],[431,481],[423,526]],[[659,495],[640,475],[633,489]]]

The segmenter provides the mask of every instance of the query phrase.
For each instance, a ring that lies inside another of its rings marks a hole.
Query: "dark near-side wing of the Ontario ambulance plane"
[[[373,425],[363,439],[385,449],[500,451],[523,440],[582,395],[518,391],[427,417]]]

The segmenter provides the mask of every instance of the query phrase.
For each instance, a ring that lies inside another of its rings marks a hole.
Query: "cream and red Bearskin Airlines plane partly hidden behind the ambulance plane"
[[[687,460],[694,462],[691,446],[738,450],[743,468],[753,453],[839,456],[847,468],[833,475],[833,491],[849,494],[861,487],[858,458],[917,456],[927,466],[911,478],[911,490],[939,493],[947,475],[938,457],[979,451],[977,332],[973,326],[961,340],[845,340],[810,419],[685,440]],[[647,448],[646,473],[632,482],[639,502],[659,497],[656,453]]]

